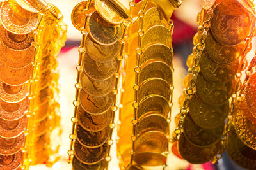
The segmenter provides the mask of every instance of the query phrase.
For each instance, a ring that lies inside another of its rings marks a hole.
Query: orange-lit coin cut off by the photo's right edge
[[[245,102],[252,112],[252,115],[256,118],[256,73],[254,73],[248,81],[245,87]]]

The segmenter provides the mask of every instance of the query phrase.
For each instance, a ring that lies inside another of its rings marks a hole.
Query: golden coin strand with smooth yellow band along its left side
[[[134,23],[129,27],[118,129],[120,169],[166,166],[173,90],[173,25],[169,18],[180,2],[165,4],[168,10],[158,1],[130,3]]]

